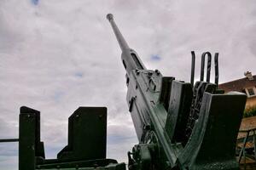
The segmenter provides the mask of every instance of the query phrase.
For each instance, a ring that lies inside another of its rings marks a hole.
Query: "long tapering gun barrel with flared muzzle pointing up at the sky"
[[[123,65],[125,66],[125,70],[129,74],[132,70],[146,70],[146,67],[143,65],[142,60],[137,56],[136,51],[129,48],[127,42],[125,41],[125,38],[119,31],[118,26],[116,26],[114,20],[113,20],[113,14],[107,14],[107,19],[109,20],[113,32],[115,34],[115,37],[117,38],[119,42],[119,46],[122,50],[122,60]]]

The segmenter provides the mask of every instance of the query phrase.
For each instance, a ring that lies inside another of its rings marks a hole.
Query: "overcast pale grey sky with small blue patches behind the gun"
[[[21,105],[41,111],[47,158],[67,144],[79,106],[108,107],[108,157],[126,161],[137,137],[125,104],[125,70],[106,14],[149,69],[189,81],[190,51],[219,53],[220,82],[256,74],[256,2],[0,1],[0,139],[18,137]],[[198,79],[199,59],[195,78]],[[18,144],[0,144],[17,169]]]

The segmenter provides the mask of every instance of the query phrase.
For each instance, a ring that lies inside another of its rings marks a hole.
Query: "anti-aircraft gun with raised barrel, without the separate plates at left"
[[[126,71],[127,104],[139,144],[128,152],[130,170],[235,170],[236,136],[246,96],[218,89],[218,54],[215,83],[210,82],[212,55],[202,54],[201,80],[195,82],[192,52],[191,82],[163,77],[147,70],[113,20],[107,18],[122,50]],[[205,57],[207,81],[204,79]]]

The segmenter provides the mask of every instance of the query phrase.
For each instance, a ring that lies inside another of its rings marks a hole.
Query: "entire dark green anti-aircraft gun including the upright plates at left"
[[[107,18],[121,48],[126,71],[127,105],[139,141],[128,152],[130,170],[237,170],[236,136],[246,95],[218,89],[210,82],[212,54],[201,57],[201,79],[195,82],[195,53],[191,80],[183,82],[148,70],[113,20]],[[204,81],[205,58],[207,79]],[[93,131],[92,131],[93,129]],[[106,158],[107,108],[79,107],[68,119],[68,142],[57,159],[45,159],[40,140],[40,112],[20,108],[19,169],[125,170],[125,163]]]

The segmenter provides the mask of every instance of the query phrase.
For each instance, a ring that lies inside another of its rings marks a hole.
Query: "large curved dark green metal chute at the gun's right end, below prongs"
[[[178,163],[189,169],[239,169],[236,136],[246,96],[208,94],[202,99],[201,116]]]

